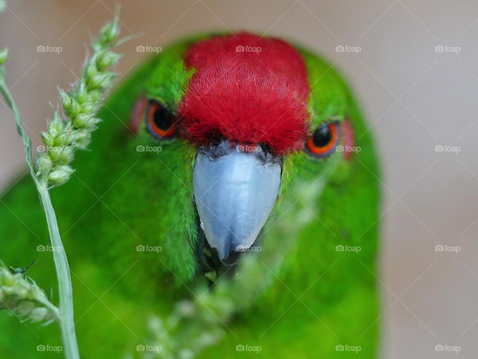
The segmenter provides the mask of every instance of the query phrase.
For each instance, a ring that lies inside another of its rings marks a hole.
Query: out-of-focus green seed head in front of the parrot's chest
[[[227,325],[233,317],[252,306],[277,275],[285,253],[300,231],[300,224],[312,220],[312,211],[317,210],[314,198],[321,191],[322,183],[317,181],[311,187],[299,182],[295,192],[301,201],[290,204],[290,221],[274,220],[273,215],[264,229],[267,237],[259,238],[260,253],[244,253],[232,278],[226,275],[229,271],[226,270],[219,278],[211,279],[211,287],[200,285],[194,298],[176,303],[167,318],[151,316],[147,328],[148,347],[139,346],[144,347],[142,359],[194,359],[218,343],[230,330]]]

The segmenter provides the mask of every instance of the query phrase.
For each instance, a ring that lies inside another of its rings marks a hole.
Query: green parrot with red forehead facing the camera
[[[81,358],[156,358],[139,353],[151,315],[167,318],[199,300],[197,283],[233,282],[266,253],[277,265],[263,259],[241,279],[267,285],[194,358],[376,358],[379,161],[334,64],[277,37],[214,33],[174,42],[127,75],[72,178],[50,191]],[[28,174],[0,202],[0,259],[28,266],[55,303]],[[46,345],[61,346],[57,326],[0,311],[1,358],[61,357]]]

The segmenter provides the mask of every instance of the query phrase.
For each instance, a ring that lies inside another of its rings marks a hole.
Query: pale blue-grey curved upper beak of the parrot
[[[281,165],[271,155],[224,146],[216,154],[198,151],[194,198],[206,239],[222,261],[254,243],[277,198],[280,176]]]

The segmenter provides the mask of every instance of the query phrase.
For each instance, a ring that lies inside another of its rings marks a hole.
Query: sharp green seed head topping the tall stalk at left
[[[48,123],[48,131],[41,133],[47,151],[39,157],[36,169],[37,174],[42,175],[42,180],[48,179],[53,186],[70,178],[73,169],[69,164],[74,159],[75,151],[87,148],[91,133],[100,122],[95,116],[101,98],[116,76],[106,69],[115,65],[121,57],[111,50],[118,44],[114,42],[118,31],[116,16],[113,22],[102,28],[100,38],[93,43],[93,55],[85,60],[76,86],[69,92],[58,89],[64,111],[55,111],[53,120]],[[1,56],[6,56],[6,50],[0,52],[0,60]]]

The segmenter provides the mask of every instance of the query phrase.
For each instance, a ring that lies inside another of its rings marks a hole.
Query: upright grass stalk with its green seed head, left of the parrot
[[[0,9],[2,5],[4,4],[0,0]],[[68,359],[80,358],[73,318],[73,292],[68,260],[58,231],[49,189],[65,183],[70,178],[74,172],[70,164],[75,151],[88,146],[91,133],[100,121],[95,116],[101,107],[101,99],[116,76],[107,71],[107,68],[115,65],[120,58],[120,55],[111,49],[124,41],[117,40],[118,20],[117,14],[112,22],[101,29],[99,39],[92,44],[92,56],[86,59],[76,86],[69,92],[59,89],[63,112],[55,110],[53,120],[48,123],[48,130],[41,133],[45,151],[38,153],[36,166],[32,162],[31,141],[23,130],[20,113],[5,84],[3,63],[8,51],[0,51],[0,93],[13,112],[17,131],[25,146],[25,160],[45,211],[51,245],[58,248],[53,251],[60,301],[59,316],[56,316],[56,319],[60,325],[64,352]],[[34,313],[38,314],[38,311]]]

